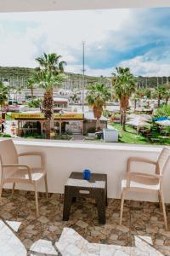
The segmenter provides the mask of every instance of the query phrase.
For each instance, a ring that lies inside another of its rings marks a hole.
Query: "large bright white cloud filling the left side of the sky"
[[[74,53],[82,58],[82,40],[87,49],[99,44],[128,16],[127,9],[1,14],[0,65],[36,67],[43,51],[63,55],[68,66],[81,62]]]

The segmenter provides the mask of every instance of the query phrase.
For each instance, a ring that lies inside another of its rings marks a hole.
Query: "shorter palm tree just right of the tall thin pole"
[[[105,103],[111,99],[111,93],[105,84],[92,84],[89,87],[86,100],[88,106],[93,108],[94,118],[96,118],[96,131],[99,130],[99,119],[103,113]]]

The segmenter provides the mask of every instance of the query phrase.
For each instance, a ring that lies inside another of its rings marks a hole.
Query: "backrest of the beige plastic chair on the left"
[[[18,164],[18,155],[12,139],[0,141],[0,162],[2,165]],[[10,176],[16,168],[3,168],[4,177]],[[2,175],[0,177],[2,179]]]

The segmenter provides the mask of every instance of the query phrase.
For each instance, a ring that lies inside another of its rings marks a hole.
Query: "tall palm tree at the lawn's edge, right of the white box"
[[[128,67],[116,67],[116,73],[112,75],[112,86],[120,102],[122,130],[125,131],[128,100],[135,91],[135,79]]]

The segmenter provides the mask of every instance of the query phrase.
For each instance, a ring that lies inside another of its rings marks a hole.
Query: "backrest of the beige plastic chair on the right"
[[[170,148],[163,148],[161,150],[161,154],[158,157],[157,164],[158,164],[158,170],[157,174],[163,175],[167,166],[167,162],[170,159]]]

